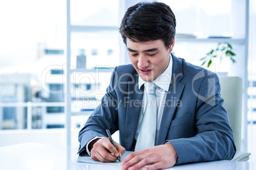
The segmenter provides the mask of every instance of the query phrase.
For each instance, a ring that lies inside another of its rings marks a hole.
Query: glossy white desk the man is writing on
[[[102,166],[78,162],[76,154],[78,147],[65,147],[61,145],[47,145],[39,143],[24,143],[0,147],[0,169],[18,170],[40,170],[40,169],[61,169],[61,170],[83,170],[83,169],[104,169],[115,170],[120,167]],[[196,164],[185,164],[174,166],[171,169],[253,169],[253,163],[234,162],[221,160],[214,162],[201,162]]]

